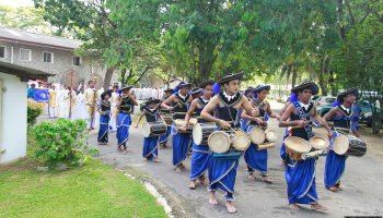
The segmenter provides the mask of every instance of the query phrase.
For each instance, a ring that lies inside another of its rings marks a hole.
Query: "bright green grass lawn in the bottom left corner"
[[[98,160],[63,172],[36,166],[0,168],[0,217],[166,217],[141,183]]]

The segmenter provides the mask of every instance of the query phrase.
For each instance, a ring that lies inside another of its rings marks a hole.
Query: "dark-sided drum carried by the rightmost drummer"
[[[367,144],[353,135],[339,134],[333,141],[333,150],[337,155],[361,157],[367,152]]]

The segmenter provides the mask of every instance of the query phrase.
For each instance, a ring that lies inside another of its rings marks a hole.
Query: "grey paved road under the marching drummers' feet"
[[[274,104],[271,107],[280,105]],[[271,121],[271,126],[277,126]],[[283,130],[279,129],[280,135]],[[139,169],[156,181],[161,190],[174,194],[176,202],[183,205],[183,209],[189,217],[228,217],[223,194],[218,193],[219,205],[211,206],[208,203],[208,192],[205,187],[196,190],[187,187],[189,179],[190,158],[186,159],[188,169],[178,174],[172,167],[172,148],[159,150],[162,162],[147,162],[143,160],[140,130],[131,129],[129,140],[129,154],[121,155],[116,149],[115,133],[109,133],[111,146],[96,145],[96,133],[93,132],[89,140],[90,145],[100,148],[100,159],[117,168]],[[269,177],[272,184],[247,180],[246,167],[243,158],[235,183],[235,205],[237,213],[230,217],[344,217],[344,216],[382,216],[383,215],[383,144],[382,138],[367,138],[369,142],[368,154],[361,158],[350,157],[347,160],[347,169],[343,178],[344,191],[332,193],[325,190],[323,172],[325,158],[321,158],[316,165],[316,187],[320,202],[328,207],[325,213],[310,210],[302,207],[300,211],[291,211],[288,208],[286,195],[286,182],[281,168],[279,147],[269,149]],[[278,142],[278,145],[281,141]],[[192,216],[190,216],[192,215]]]

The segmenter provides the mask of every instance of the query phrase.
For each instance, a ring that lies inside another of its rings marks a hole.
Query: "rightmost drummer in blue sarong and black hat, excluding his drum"
[[[349,134],[350,119],[352,118],[351,106],[357,99],[357,88],[351,88],[340,93],[337,96],[337,104],[324,116],[325,120],[334,121],[334,129],[336,133],[334,138],[338,135],[337,132]],[[339,105],[340,104],[340,105]],[[357,130],[352,130],[355,135],[359,135]],[[345,172],[347,156],[337,155],[334,150],[329,150],[326,157],[324,183],[326,187],[333,192],[340,189],[340,178]]]

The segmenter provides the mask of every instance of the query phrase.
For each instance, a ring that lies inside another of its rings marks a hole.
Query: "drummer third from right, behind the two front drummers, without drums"
[[[277,116],[272,114],[270,104],[266,100],[266,96],[268,95],[269,90],[269,85],[258,85],[253,89],[255,95],[249,99],[249,101],[253,107],[258,108],[259,117],[255,118],[242,112],[241,117],[244,120],[251,121],[246,126],[245,132],[249,132],[255,125],[259,125],[262,128],[267,126],[266,121],[269,117],[277,118]],[[244,158],[247,165],[248,179],[254,180],[254,171],[257,170],[259,171],[264,182],[271,183],[270,179],[267,177],[267,149],[258,150],[256,145],[252,143],[252,145],[245,152]]]

